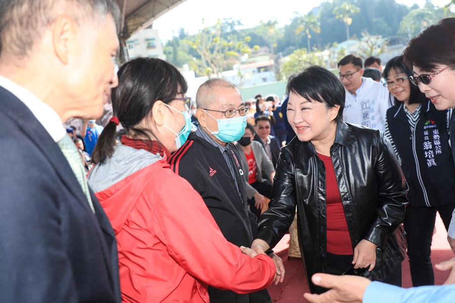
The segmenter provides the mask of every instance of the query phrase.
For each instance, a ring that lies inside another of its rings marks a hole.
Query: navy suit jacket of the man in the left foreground
[[[0,87],[0,302],[119,302],[117,242],[65,156]]]

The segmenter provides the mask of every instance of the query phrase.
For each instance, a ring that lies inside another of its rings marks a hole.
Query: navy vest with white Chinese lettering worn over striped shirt
[[[447,111],[436,110],[427,100],[420,108],[414,130],[407,121],[404,104],[388,109],[386,119],[410,187],[409,203],[414,207],[453,203],[455,167],[448,143]]]

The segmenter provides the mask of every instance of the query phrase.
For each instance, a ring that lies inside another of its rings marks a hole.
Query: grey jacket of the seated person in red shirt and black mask
[[[236,143],[237,149],[239,150],[240,154],[240,162],[242,163],[243,169],[243,177],[246,181],[246,188],[247,188],[247,197],[251,199],[254,194],[257,192],[256,189],[253,188],[250,184],[248,184],[248,163],[245,157],[245,153],[242,149],[242,145]],[[263,182],[264,178],[262,176],[269,177],[271,173],[275,171],[274,165],[268,159],[267,154],[265,153],[262,144],[257,141],[251,142],[251,149],[253,150],[254,159],[256,159],[257,171],[256,171],[256,179],[259,182]],[[263,173],[263,174],[262,174]],[[270,180],[271,181],[271,180]]]

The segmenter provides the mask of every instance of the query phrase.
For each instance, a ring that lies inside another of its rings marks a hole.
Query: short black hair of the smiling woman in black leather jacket
[[[303,72],[292,75],[288,80],[286,94],[294,92],[309,102],[324,103],[327,108],[340,106],[335,122],[343,119],[346,91],[343,84],[332,72],[321,66],[310,66]]]

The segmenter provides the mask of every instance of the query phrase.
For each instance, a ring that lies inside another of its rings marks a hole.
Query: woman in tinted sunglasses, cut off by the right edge
[[[410,80],[430,99],[436,109],[455,107],[455,18],[430,25],[409,41],[403,52],[404,62],[412,66]],[[450,117],[450,142],[455,146],[455,115]],[[455,147],[452,148],[455,159]],[[454,211],[455,213],[455,211]],[[447,240],[455,253],[455,214],[447,231]]]

